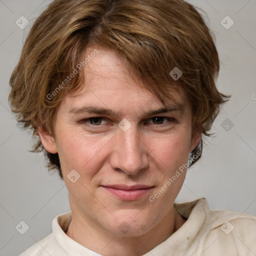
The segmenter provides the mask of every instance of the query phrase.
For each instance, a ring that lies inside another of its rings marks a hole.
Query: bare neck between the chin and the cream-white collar
[[[167,214],[147,233],[139,236],[117,236],[101,228],[79,210],[72,210],[72,220],[66,234],[84,247],[105,256],[139,256],[166,240],[184,222],[185,219],[172,204]]]

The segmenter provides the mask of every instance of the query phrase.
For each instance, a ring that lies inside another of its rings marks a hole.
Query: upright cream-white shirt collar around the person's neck
[[[143,256],[164,256],[172,253],[179,254],[192,246],[195,237],[201,230],[206,219],[206,212],[210,211],[205,198],[185,203],[174,203],[174,207],[186,222],[166,240],[158,244]],[[71,211],[57,215],[52,220],[52,233],[59,246],[70,255],[95,256],[94,251],[82,246],[66,235],[65,231],[71,221]]]

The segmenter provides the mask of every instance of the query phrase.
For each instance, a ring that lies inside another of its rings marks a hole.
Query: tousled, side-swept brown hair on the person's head
[[[218,53],[195,7],[183,0],[54,0],[30,29],[8,98],[17,121],[36,138],[31,151],[44,151],[49,170],[57,168],[62,178],[58,154],[43,148],[37,127],[54,135],[61,99],[81,88],[83,72],[66,77],[86,64],[88,43],[115,50],[164,104],[173,100],[173,87],[182,88],[192,106],[193,132],[200,128],[210,135],[219,104],[228,96],[216,89]],[[169,75],[174,67],[182,72],[177,80]],[[201,142],[194,155],[200,156]]]

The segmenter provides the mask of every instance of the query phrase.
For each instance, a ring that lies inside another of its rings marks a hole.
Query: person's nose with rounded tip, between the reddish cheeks
[[[149,148],[135,125],[131,125],[126,131],[119,129],[113,138],[110,165],[114,170],[135,175],[139,170],[148,167],[149,161],[146,155],[148,151]]]

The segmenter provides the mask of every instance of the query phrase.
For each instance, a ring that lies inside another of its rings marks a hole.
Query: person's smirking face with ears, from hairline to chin
[[[59,155],[72,214],[115,235],[142,235],[170,210],[185,178],[185,169],[176,170],[199,136],[191,137],[182,91],[173,96],[183,109],[173,103],[159,110],[166,105],[142,89],[114,51],[97,49],[84,68],[82,91],[60,103],[55,137],[40,136]]]

